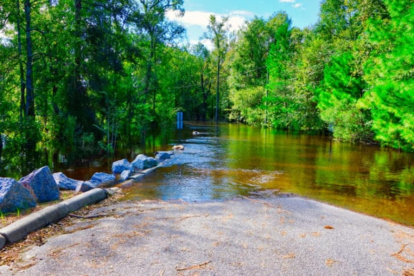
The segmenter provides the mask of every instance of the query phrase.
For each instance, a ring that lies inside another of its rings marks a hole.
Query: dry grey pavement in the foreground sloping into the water
[[[302,197],[95,207],[0,274],[414,275],[413,228]]]

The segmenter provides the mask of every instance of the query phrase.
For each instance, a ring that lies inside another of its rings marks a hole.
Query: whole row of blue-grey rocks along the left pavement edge
[[[131,175],[157,166],[159,161],[170,158],[169,152],[159,152],[157,156],[138,155],[131,163],[127,159],[112,163],[112,174],[95,172],[87,181],[66,177],[63,172],[51,173],[48,166],[34,170],[19,181],[0,177],[0,212],[10,213],[36,206],[37,203],[59,199],[59,190],[75,190],[86,192],[97,186],[103,186]]]

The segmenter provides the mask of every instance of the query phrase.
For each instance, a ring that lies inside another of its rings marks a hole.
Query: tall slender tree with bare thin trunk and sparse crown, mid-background
[[[217,79],[216,79],[216,108],[215,108],[215,121],[219,121],[219,86],[220,86],[220,68],[224,62],[224,57],[228,50],[228,17],[221,17],[218,20],[214,14],[210,15],[210,21],[207,26],[207,32],[204,33],[204,37],[209,39],[215,49],[213,55],[216,56],[217,65]]]

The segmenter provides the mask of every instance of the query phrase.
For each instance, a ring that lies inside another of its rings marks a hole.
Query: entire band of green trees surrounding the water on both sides
[[[374,133],[414,150],[412,1],[324,0],[304,30],[278,12],[229,34],[226,18],[212,16],[211,51],[177,46],[184,29],[165,12],[184,12],[182,0],[35,0],[30,12],[28,2],[0,8],[0,161],[19,172],[44,161],[40,150],[76,160],[132,146],[177,110],[188,120],[333,126],[338,139]]]

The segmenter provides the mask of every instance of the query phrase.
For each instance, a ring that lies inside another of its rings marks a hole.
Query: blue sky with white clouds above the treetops
[[[187,30],[188,42],[197,43],[206,32],[210,14],[228,16],[231,30],[241,28],[246,20],[257,17],[268,19],[273,13],[285,11],[293,26],[304,28],[317,22],[319,0],[184,0],[184,17],[169,13],[168,18],[177,20]],[[208,44],[207,41],[201,41]],[[208,46],[208,45],[206,45]]]

